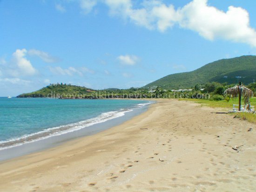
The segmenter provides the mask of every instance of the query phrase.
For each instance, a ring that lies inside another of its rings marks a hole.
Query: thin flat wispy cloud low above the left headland
[[[73,66],[68,67],[67,69],[63,69],[60,66],[51,67],[50,71],[56,75],[80,75],[83,76],[84,73],[94,73],[94,71],[86,68],[86,67],[80,67],[80,68],[74,68]]]

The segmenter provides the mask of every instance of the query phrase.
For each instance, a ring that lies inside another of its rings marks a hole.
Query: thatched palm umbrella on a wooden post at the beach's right
[[[241,82],[237,86],[233,86],[224,91],[226,95],[232,95],[233,97],[239,97],[239,111],[241,111],[241,96],[244,98],[244,105],[247,106],[247,110],[250,111],[250,97],[253,96],[253,91],[245,86],[242,86]]]

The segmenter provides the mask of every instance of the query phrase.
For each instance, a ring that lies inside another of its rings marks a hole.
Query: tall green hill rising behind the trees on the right
[[[241,77],[237,79],[236,77]],[[165,89],[190,88],[207,82],[249,84],[256,80],[256,56],[241,56],[217,60],[192,72],[175,73],[158,79],[144,87],[161,86]]]

